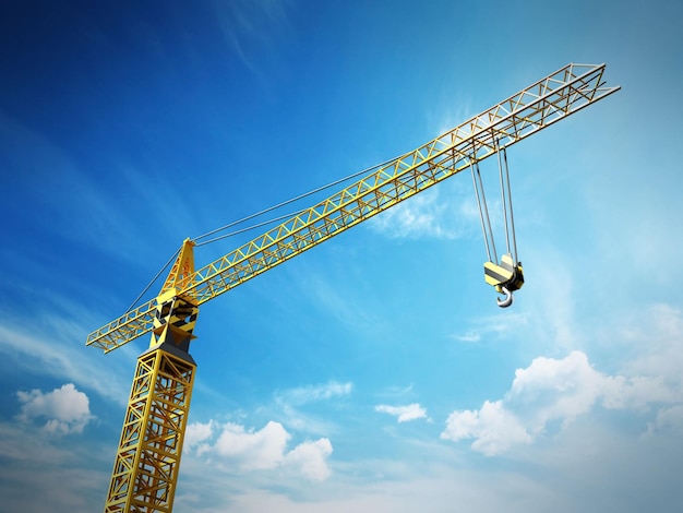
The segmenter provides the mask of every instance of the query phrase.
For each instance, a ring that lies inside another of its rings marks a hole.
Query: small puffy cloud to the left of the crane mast
[[[77,391],[73,383],[48,393],[19,391],[16,396],[22,403],[17,418],[23,422],[45,420],[43,429],[49,433],[80,433],[93,419],[87,395]]]

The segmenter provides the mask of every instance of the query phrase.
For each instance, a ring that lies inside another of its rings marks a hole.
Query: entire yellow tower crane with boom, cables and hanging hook
[[[200,305],[468,168],[489,255],[484,277],[504,295],[499,305],[510,305],[512,293],[524,284],[522,265],[510,240],[500,261],[494,248],[489,251],[492,232],[486,200],[479,196],[478,164],[494,154],[500,163],[506,147],[619,91],[603,82],[604,69],[567,64],[199,270],[195,242],[185,239],[156,299],[87,337],[86,345],[109,353],[152,334],[133,375],[105,512],[172,510],[196,369],[189,348]],[[504,210],[510,199],[505,182],[501,167]],[[514,241],[512,204],[504,213],[506,236],[513,226]]]

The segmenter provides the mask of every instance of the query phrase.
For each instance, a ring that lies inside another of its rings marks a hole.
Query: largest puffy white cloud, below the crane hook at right
[[[659,378],[606,375],[592,368],[584,353],[573,351],[563,359],[540,357],[528,368],[517,369],[504,398],[487,401],[478,410],[453,411],[441,438],[474,439],[472,450],[492,456],[531,443],[553,421],[566,427],[596,404],[643,409],[651,403],[678,401],[680,393]],[[680,415],[678,409],[660,413],[650,430],[679,425]]]

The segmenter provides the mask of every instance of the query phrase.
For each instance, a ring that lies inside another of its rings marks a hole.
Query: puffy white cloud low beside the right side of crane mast
[[[188,426],[188,450],[196,456],[211,455],[219,464],[227,463],[240,470],[288,469],[303,477],[322,481],[331,469],[327,463],[333,452],[326,438],[307,441],[288,451],[291,434],[281,423],[269,421],[262,429],[215,421]]]

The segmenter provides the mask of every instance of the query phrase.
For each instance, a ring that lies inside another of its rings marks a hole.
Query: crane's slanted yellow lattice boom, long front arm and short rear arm
[[[200,269],[183,293],[199,305],[324,242],[556,121],[619,91],[602,82],[604,64],[568,64],[443,135]],[[147,333],[155,301],[92,333],[109,351]]]

